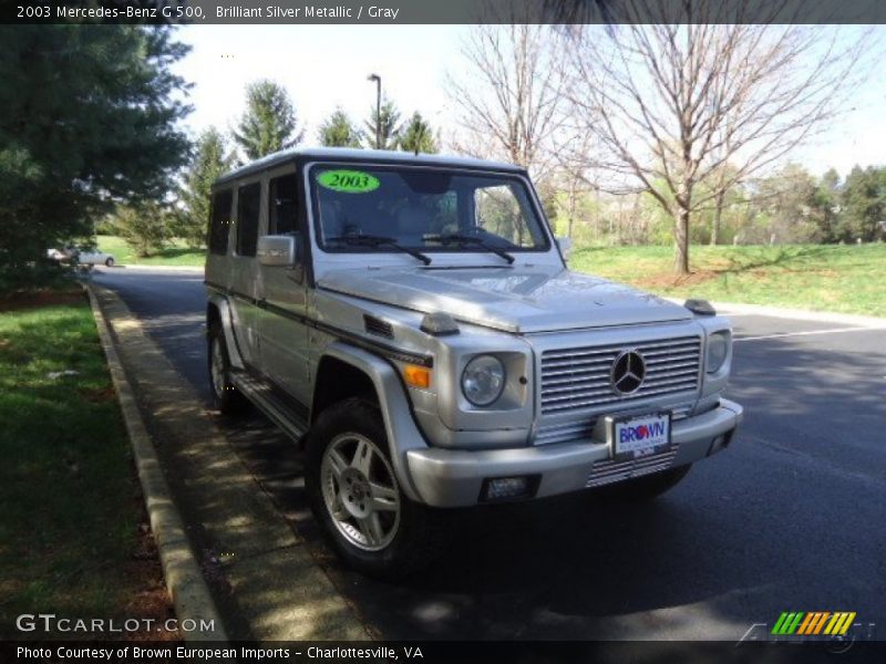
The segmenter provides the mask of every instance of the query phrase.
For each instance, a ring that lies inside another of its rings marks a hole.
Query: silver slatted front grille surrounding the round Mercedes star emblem
[[[646,361],[639,390],[619,394],[610,384],[612,362],[625,344],[581,346],[542,354],[542,413],[560,413],[604,404],[626,404],[649,397],[694,391],[699,385],[701,338],[680,336],[631,344]]]

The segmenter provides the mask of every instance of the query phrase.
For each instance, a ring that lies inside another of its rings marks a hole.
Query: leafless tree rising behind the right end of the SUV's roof
[[[467,141],[455,147],[543,177],[563,128],[565,52],[549,25],[514,23],[475,25],[462,44],[470,71],[451,77],[449,92]]]

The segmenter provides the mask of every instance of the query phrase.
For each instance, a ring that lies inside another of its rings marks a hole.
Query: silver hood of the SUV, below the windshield
[[[690,320],[678,304],[559,267],[348,269],[322,289],[512,333]]]

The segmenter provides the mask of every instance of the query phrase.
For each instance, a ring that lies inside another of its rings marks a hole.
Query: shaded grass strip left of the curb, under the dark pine
[[[79,288],[0,300],[0,639],[41,636],[16,631],[22,613],[165,621],[130,444]]]

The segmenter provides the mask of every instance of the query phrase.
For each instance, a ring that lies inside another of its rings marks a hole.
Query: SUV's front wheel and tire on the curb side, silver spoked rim
[[[403,494],[375,404],[348,398],[323,411],[307,452],[311,509],[349,567],[374,577],[401,577],[440,553],[446,536],[443,516]]]

